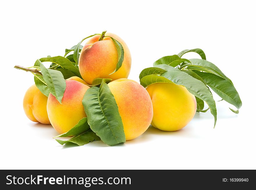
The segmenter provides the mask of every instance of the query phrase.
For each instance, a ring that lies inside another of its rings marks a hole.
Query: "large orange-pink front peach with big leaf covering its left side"
[[[126,140],[135,139],[147,130],[153,107],[146,89],[134,80],[121,78],[108,84],[118,105]]]

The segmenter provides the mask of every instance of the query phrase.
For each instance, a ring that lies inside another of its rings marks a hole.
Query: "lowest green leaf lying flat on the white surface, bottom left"
[[[92,141],[99,141],[100,138],[95,134],[95,132],[93,132],[92,130],[88,130],[84,133],[82,133],[81,135],[76,135],[72,138],[70,138],[67,141],[63,141],[63,140],[59,140],[59,139],[55,139],[59,144],[63,145],[67,142],[71,142],[74,144],[77,144],[78,146],[82,146],[85,144],[88,144],[89,142]]]

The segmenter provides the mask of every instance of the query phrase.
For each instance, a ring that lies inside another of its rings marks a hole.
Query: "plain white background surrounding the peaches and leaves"
[[[256,169],[253,1],[4,1],[0,16],[0,169]],[[50,125],[24,114],[23,96],[33,75],[13,67],[63,56],[65,48],[103,30],[127,43],[129,78],[137,81],[140,71],[162,56],[203,49],[233,81],[243,102],[240,113],[221,101],[215,129],[210,112],[196,113],[177,132],[150,127],[113,147],[101,141],[61,146]]]

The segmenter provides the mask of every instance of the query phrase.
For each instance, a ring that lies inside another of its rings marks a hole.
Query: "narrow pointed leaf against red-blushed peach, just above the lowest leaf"
[[[84,117],[83,119],[80,119],[80,121],[74,127],[72,127],[68,132],[65,132],[53,138],[81,135],[82,133],[88,130],[90,130],[90,126],[87,122],[87,117]]]

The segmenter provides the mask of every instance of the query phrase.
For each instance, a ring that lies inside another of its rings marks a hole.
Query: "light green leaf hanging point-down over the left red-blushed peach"
[[[43,78],[49,88],[49,91],[61,103],[65,89],[66,81],[60,71],[53,69],[46,69],[41,63],[40,66]]]

